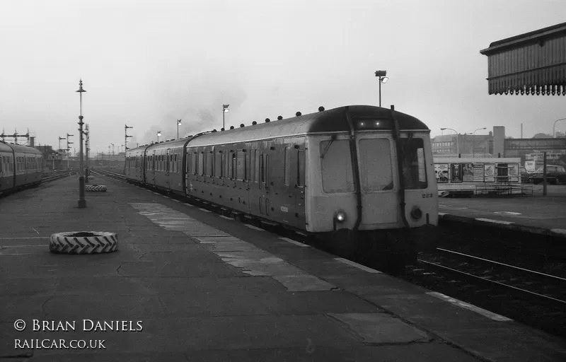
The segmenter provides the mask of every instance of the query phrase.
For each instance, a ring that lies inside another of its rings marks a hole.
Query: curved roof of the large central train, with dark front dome
[[[195,137],[190,141],[190,146],[204,144],[225,144],[234,141],[245,141],[250,139],[270,139],[281,136],[294,136],[309,133],[326,132],[348,132],[350,129],[345,117],[346,107],[337,107],[323,112],[314,112],[308,115],[292,117],[281,120],[271,120],[246,127],[227,129],[224,132],[210,132]],[[352,119],[374,119],[392,120],[391,110],[388,108],[374,107],[371,105],[350,105],[348,112]],[[400,130],[429,130],[426,124],[419,119],[402,112],[394,111],[393,116],[399,123]],[[380,130],[393,129],[393,122],[388,122],[391,127]],[[149,146],[151,149],[170,148],[177,142],[185,142],[187,139],[163,142]],[[142,146],[139,148],[144,148]],[[134,148],[134,150],[139,150]],[[132,151],[134,151],[132,150]],[[149,149],[148,149],[149,151]]]

